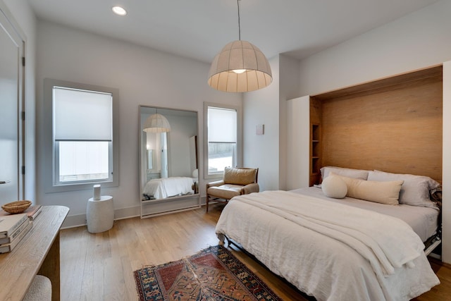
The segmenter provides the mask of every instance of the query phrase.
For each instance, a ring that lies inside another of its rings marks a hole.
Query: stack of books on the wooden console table
[[[33,219],[42,207],[29,207],[21,214],[8,214],[0,211],[0,254],[11,252],[33,226]]]

